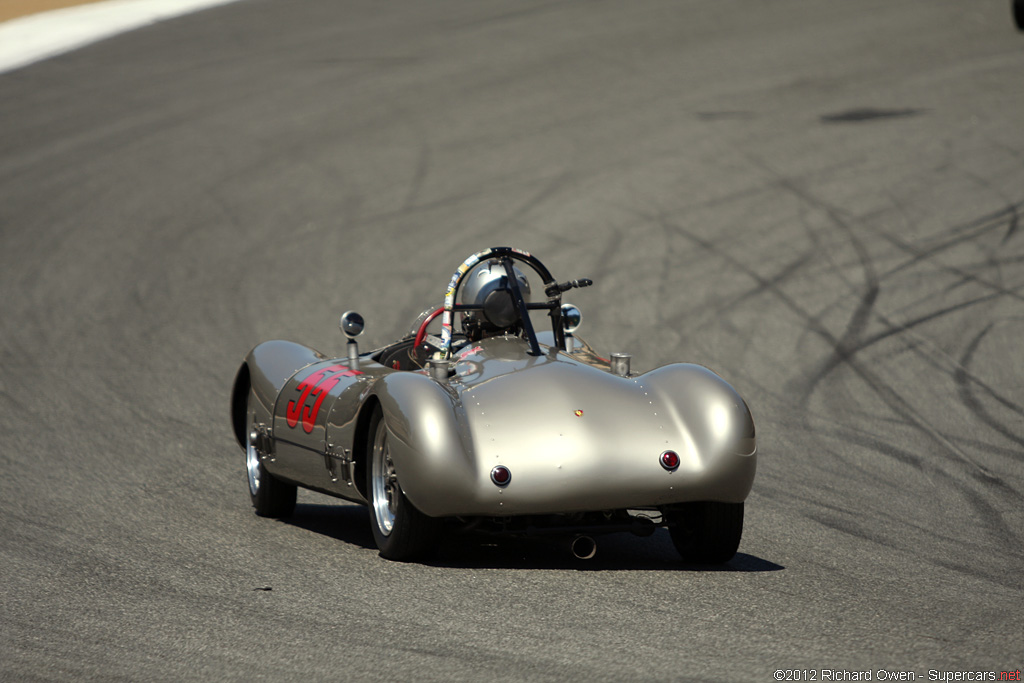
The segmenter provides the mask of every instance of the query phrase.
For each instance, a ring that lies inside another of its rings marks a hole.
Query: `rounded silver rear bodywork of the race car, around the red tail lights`
[[[380,389],[402,489],[425,513],[739,503],[750,493],[754,423],[711,371],[674,365],[617,377],[500,338],[471,350],[447,387],[413,376]],[[680,455],[677,470],[659,464],[665,451]],[[497,465],[512,473],[506,486],[490,480]]]

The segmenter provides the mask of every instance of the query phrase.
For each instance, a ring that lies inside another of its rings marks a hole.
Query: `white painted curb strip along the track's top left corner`
[[[0,73],[119,33],[236,0],[105,0],[0,24]]]

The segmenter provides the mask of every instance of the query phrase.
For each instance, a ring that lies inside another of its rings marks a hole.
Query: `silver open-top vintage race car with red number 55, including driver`
[[[597,355],[562,303],[591,284],[558,283],[530,254],[496,247],[466,259],[443,304],[384,348],[358,351],[353,311],[341,317],[346,357],[256,346],[231,393],[256,514],[291,514],[296,486],[361,503],[394,560],[459,528],[560,535],[590,557],[594,536],[658,526],[686,561],[729,560],[756,469],[750,410],[700,366],[633,374],[628,355]]]

